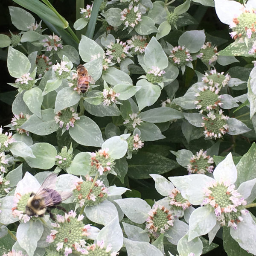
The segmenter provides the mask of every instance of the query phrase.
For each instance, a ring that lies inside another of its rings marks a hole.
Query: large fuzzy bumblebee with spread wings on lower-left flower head
[[[54,189],[56,181],[57,174],[52,173],[44,180],[44,183],[38,189],[38,192],[30,194],[26,204],[26,215],[30,217],[35,215],[42,217],[45,212],[48,212],[50,218],[55,220],[51,208],[61,209],[66,212],[66,210],[63,207],[58,206],[58,204],[69,198],[72,195],[72,192],[57,192]]]

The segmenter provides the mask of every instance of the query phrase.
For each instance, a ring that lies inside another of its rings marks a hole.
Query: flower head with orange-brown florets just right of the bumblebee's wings
[[[103,181],[96,180],[93,184],[93,178],[88,175],[85,176],[85,180],[80,177],[72,188],[75,200],[80,207],[99,204],[108,196],[108,189],[103,184]]]

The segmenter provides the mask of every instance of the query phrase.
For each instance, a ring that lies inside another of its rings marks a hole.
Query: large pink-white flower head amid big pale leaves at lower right
[[[236,229],[237,224],[243,221],[242,215],[246,215],[248,211],[244,208],[247,203],[237,192],[235,185],[213,181],[204,188],[204,193],[206,197],[201,206],[212,207],[221,226]]]

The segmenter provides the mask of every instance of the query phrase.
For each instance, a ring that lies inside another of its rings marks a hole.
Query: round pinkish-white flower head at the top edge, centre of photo
[[[141,21],[141,12],[139,12],[139,7],[133,6],[133,2],[131,2],[128,9],[125,8],[122,10],[121,20],[126,27],[130,26],[134,28],[139,24],[139,21]]]

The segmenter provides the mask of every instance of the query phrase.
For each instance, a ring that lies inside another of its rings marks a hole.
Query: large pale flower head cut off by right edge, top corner
[[[230,23],[231,38],[236,41],[244,42],[256,37],[256,9],[242,9],[240,15],[235,15],[233,21]]]

